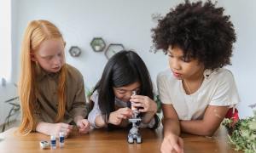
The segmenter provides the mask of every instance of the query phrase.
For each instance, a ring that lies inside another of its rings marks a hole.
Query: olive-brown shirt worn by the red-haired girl
[[[81,73],[67,65],[66,111],[62,122],[74,124],[75,116],[86,116],[87,108],[84,93],[84,81]],[[55,122],[58,110],[58,73],[48,73],[39,66],[36,68],[38,83],[35,117],[37,122]]]

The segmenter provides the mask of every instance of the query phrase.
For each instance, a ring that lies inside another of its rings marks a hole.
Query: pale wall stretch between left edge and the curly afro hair
[[[147,3],[146,3],[147,2]],[[150,29],[155,26],[151,14],[167,11],[172,2],[165,1],[125,1],[125,0],[22,0],[17,18],[17,42],[20,49],[23,32],[30,20],[50,20],[62,31],[67,41],[67,51],[71,45],[78,45],[83,53],[72,58],[67,53],[67,63],[77,67],[89,87],[95,85],[107,62],[103,53],[95,53],[90,48],[93,37],[103,37],[109,44],[120,42],[125,48],[136,49],[142,56],[152,77],[155,78],[160,67],[165,67],[162,53],[149,53],[151,45]],[[154,63],[154,65],[153,65]],[[17,76],[17,75],[15,75]]]

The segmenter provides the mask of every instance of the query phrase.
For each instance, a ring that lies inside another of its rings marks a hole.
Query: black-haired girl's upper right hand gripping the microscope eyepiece
[[[132,106],[137,107],[140,112],[154,112],[157,111],[157,105],[154,100],[148,96],[143,95],[132,95],[130,101]]]

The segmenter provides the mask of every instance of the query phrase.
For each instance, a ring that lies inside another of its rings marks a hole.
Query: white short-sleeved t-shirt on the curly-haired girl
[[[204,71],[201,87],[194,94],[186,94],[182,80],[173,77],[172,71],[160,72],[157,87],[163,104],[172,105],[180,120],[202,119],[207,105],[230,107],[240,102],[231,71],[220,68]]]

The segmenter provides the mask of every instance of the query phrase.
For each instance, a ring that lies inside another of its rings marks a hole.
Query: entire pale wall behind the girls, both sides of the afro
[[[93,37],[103,37],[109,44],[119,42],[125,48],[133,48],[141,55],[155,82],[159,71],[166,69],[166,56],[162,53],[149,53],[152,45],[150,29],[156,24],[151,14],[166,14],[178,0],[13,0],[15,7],[15,26],[13,27],[13,52],[20,54],[20,42],[27,23],[30,20],[50,20],[62,31],[67,41],[67,50],[78,45],[83,52],[79,58],[72,58],[67,53],[67,63],[77,67],[84,75],[85,84],[93,87],[102,75],[107,62],[103,53],[95,53],[90,48]],[[235,44],[233,65],[237,87],[241,94],[239,110],[241,116],[252,115],[247,105],[256,102],[256,68],[253,67],[255,44],[256,2],[247,0],[220,1],[226,8],[236,26],[237,42]],[[18,78],[19,56],[14,57],[14,81]]]

